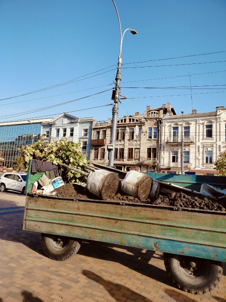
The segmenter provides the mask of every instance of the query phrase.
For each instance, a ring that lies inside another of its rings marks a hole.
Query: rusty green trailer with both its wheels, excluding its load
[[[226,213],[145,203],[36,195],[27,177],[23,231],[41,234],[46,255],[65,260],[82,239],[164,253],[165,267],[183,290],[214,289],[226,262]]]

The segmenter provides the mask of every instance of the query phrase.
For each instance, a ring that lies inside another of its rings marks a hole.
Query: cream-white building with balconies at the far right
[[[162,123],[161,172],[181,174],[181,138],[184,141],[184,174],[216,175],[213,162],[226,150],[226,108],[172,115]]]

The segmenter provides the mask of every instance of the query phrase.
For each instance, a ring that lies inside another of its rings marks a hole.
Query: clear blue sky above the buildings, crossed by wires
[[[178,114],[182,110],[191,113],[189,71],[193,109],[209,112],[226,105],[226,86],[215,86],[226,85],[226,62],[216,62],[226,61],[226,52],[159,60],[226,51],[225,0],[115,2],[122,30],[138,32],[132,35],[128,31],[124,37],[121,90],[132,100],[122,100],[119,117],[144,113],[147,105],[155,108],[167,102]],[[120,47],[119,23],[111,0],[2,0],[0,28],[0,90],[1,99],[6,99],[0,101],[0,122],[54,117],[62,112],[93,116],[97,121],[111,118],[110,106],[72,112],[112,103],[111,91],[103,92],[114,87]],[[193,64],[202,62],[216,63]],[[79,78],[88,73],[88,79]],[[197,73],[207,74],[192,75]],[[71,81],[76,78],[77,82]],[[70,84],[27,94],[68,81]],[[188,89],[160,89],[181,86]],[[16,97],[23,94],[27,95]],[[70,102],[76,99],[80,100]],[[61,105],[65,102],[69,103]]]

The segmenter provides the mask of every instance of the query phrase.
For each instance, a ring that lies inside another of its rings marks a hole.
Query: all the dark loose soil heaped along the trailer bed
[[[56,192],[56,197],[65,197],[65,198],[83,198],[83,199],[95,199],[98,200],[99,198],[90,193],[86,188],[77,185],[77,184],[66,184],[59,188],[56,188],[53,192]],[[122,193],[116,194],[114,198],[111,200],[116,201],[126,201],[126,202],[145,202],[149,204],[155,205],[168,205],[168,206],[175,206],[175,207],[185,207],[185,208],[195,208],[195,209],[203,209],[203,210],[213,210],[213,211],[225,211],[225,208],[211,200],[210,198],[204,197],[203,199],[195,196],[194,194],[191,196],[184,194],[184,193],[176,193],[172,196],[159,196],[155,201],[150,199],[146,199],[145,201],[140,201],[138,198],[133,196],[127,196]]]

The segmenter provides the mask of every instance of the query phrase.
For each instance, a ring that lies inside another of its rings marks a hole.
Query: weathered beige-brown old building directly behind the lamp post
[[[118,119],[114,165],[123,171],[158,171],[161,150],[161,123],[166,114],[175,114],[171,104],[151,109],[144,114]],[[108,164],[107,144],[110,142],[111,119],[93,121],[90,162]]]

